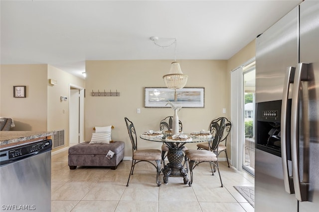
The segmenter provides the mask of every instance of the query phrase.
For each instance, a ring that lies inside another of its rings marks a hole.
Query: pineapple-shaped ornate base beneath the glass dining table
[[[169,163],[165,165],[163,169],[163,181],[164,183],[168,183],[169,177],[183,177],[184,184],[188,183],[187,177],[187,169],[185,169],[182,165],[182,161],[184,158],[184,154],[182,151],[183,147],[173,147],[169,146],[169,150],[167,152],[167,158]]]

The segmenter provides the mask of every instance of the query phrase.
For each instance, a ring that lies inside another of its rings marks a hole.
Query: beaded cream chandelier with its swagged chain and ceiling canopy
[[[168,44],[167,46],[161,46],[156,43],[157,40],[159,40],[158,37],[151,37],[151,40],[154,41],[154,44],[157,46],[160,46],[162,48],[170,47],[171,45],[175,45],[175,59],[174,62],[171,63],[170,70],[168,74],[163,75],[164,83],[167,88],[174,89],[174,100],[177,101],[177,95],[176,95],[176,89],[183,88],[186,85],[188,76],[186,74],[183,74],[183,72],[180,69],[179,63],[176,62],[176,43],[177,40],[174,38],[174,41],[171,44]]]

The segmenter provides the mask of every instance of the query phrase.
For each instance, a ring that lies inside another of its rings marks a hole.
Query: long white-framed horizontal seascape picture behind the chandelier
[[[175,91],[163,87],[145,87],[145,107],[170,107],[168,101],[183,108],[204,107],[204,87],[184,87]]]

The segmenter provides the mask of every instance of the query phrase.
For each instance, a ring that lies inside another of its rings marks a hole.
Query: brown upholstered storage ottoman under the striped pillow
[[[115,170],[124,158],[124,147],[123,141],[76,144],[69,148],[69,167],[76,169],[76,166],[108,166]],[[111,159],[106,157],[109,150],[114,152]]]

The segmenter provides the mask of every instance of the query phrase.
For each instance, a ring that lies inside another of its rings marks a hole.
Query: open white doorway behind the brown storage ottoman
[[[84,88],[70,84],[69,146],[84,141]]]

